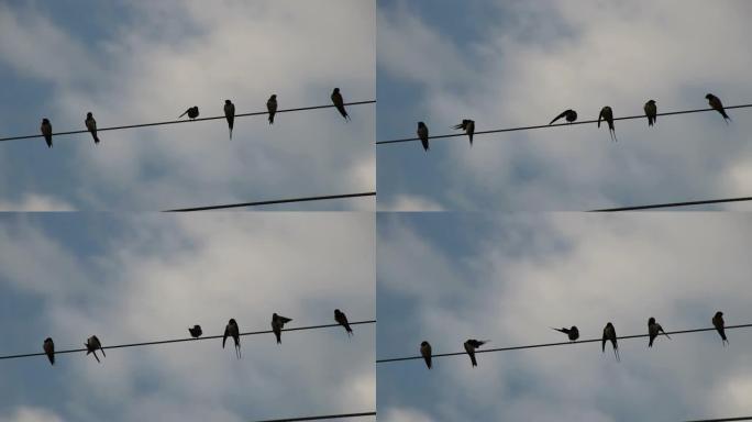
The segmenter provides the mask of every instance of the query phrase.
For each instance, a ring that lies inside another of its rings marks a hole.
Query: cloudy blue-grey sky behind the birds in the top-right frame
[[[384,0],[377,12],[377,140],[548,124],[752,99],[745,0]],[[377,147],[384,210],[585,210],[749,196],[749,111],[578,125]],[[749,209],[749,207],[748,207]]]

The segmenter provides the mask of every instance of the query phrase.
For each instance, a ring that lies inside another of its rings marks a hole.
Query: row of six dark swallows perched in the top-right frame
[[[726,113],[726,110],[723,109],[723,103],[721,102],[720,98],[714,96],[712,93],[708,93],[707,96],[705,96],[705,98],[708,100],[710,107],[723,116],[723,121],[728,124],[731,118],[729,118],[729,115]],[[645,102],[643,110],[645,112],[645,118],[648,118],[648,126],[653,126],[657,121],[657,106],[655,104],[655,100],[649,100],[648,102]],[[564,110],[561,112],[561,114],[555,116],[551,121],[551,123],[549,123],[549,125],[554,124],[560,119],[566,120],[567,123],[574,123],[575,121],[577,121],[577,112],[572,109]],[[605,121],[608,124],[611,141],[618,141],[616,137],[616,130],[613,127],[613,110],[609,106],[606,106],[602,109],[600,109],[600,114],[598,114],[598,127],[600,127],[601,121]],[[463,119],[462,123],[452,126],[452,129],[465,131],[467,137],[469,138],[471,146],[473,146],[473,134],[475,134],[475,121],[471,119]],[[423,151],[428,152],[429,130],[424,122],[418,122],[417,133],[420,143],[423,145]]]

